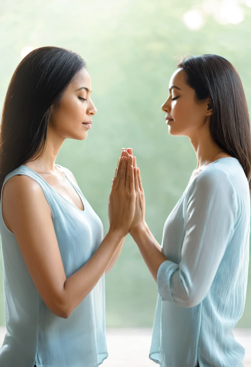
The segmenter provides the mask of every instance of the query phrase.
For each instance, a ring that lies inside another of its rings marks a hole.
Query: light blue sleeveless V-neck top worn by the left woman
[[[64,167],[58,166],[64,171]],[[3,186],[9,178],[20,174],[32,177],[43,189],[51,207],[65,275],[69,277],[90,259],[102,242],[102,222],[66,173],[65,177],[82,200],[84,211],[61,196],[41,175],[23,165],[7,174]],[[2,192],[3,187],[0,199]],[[105,275],[68,319],[54,315],[34,286],[15,236],[3,221],[2,205],[0,207],[7,327],[0,349],[0,366],[33,367],[36,363],[37,367],[97,367],[108,357]]]

